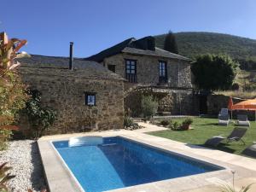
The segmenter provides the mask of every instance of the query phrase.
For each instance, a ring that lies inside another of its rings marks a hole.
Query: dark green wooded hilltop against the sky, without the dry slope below
[[[195,55],[212,53],[228,54],[239,61],[255,61],[256,40],[214,32],[174,33],[180,55],[193,58]],[[163,48],[166,34],[155,36],[156,46]]]

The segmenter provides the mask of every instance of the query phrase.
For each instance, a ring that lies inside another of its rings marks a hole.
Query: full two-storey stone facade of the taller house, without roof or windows
[[[131,55],[120,53],[105,58],[102,65],[115,65],[115,73],[125,79],[125,59],[137,61],[137,84],[125,83],[125,90],[132,86],[154,87],[150,94],[159,102],[159,113],[194,114],[194,95],[191,83],[191,70],[189,61],[165,58],[153,55]],[[167,83],[160,84],[159,61],[166,61]],[[158,92],[160,91],[160,92]],[[147,93],[149,94],[149,93]],[[140,116],[141,93],[131,91],[125,97],[125,109],[131,109],[133,116]]]

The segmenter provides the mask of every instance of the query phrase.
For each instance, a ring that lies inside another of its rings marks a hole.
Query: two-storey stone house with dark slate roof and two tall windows
[[[125,82],[125,108],[139,116],[143,94],[159,102],[159,113],[195,113],[189,59],[154,46],[154,38],[129,38],[85,58],[100,62]],[[143,93],[143,94],[142,94]]]

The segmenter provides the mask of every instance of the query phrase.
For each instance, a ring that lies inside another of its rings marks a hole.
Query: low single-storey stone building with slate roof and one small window
[[[125,79],[116,73],[73,57],[32,55],[20,63],[23,82],[57,113],[48,134],[123,128]],[[22,123],[26,132],[26,117]]]

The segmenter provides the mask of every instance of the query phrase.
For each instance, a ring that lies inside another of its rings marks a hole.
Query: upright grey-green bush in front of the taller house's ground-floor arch
[[[158,102],[154,101],[153,96],[143,96],[142,111],[144,118],[151,118],[158,108]]]

